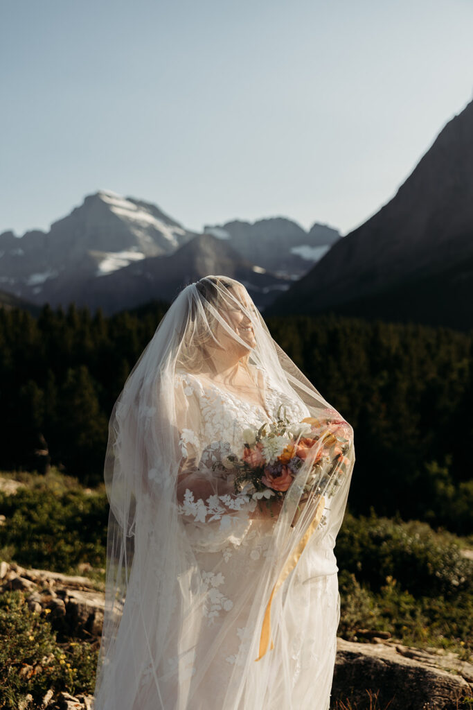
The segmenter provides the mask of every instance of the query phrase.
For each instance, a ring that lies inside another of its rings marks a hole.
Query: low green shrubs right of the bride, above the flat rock
[[[473,651],[473,562],[449,532],[426,523],[346,515],[335,552],[338,633],[389,631],[406,645]],[[358,640],[362,640],[361,638]]]

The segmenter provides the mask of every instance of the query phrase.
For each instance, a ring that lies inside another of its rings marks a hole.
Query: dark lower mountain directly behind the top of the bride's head
[[[241,258],[225,241],[211,234],[200,234],[170,256],[154,256],[130,263],[101,278],[61,283],[45,283],[44,295],[52,307],[100,305],[106,315],[133,308],[150,300],[170,301],[184,285],[208,274],[225,274],[243,283],[258,307],[274,298],[274,292],[288,288],[288,283]]]

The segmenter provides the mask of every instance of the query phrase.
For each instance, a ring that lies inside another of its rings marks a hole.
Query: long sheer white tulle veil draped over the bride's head
[[[215,474],[203,464],[208,442],[201,435],[212,413],[191,395],[189,381],[218,383],[242,408],[260,407],[262,419],[271,391],[282,404],[295,403],[306,417],[325,422],[321,426],[328,435],[345,427],[347,444],[325,459],[311,493],[303,496],[320,454],[320,447],[311,449],[276,518],[255,515],[257,502],[230,486],[221,489],[225,495],[218,501],[224,513],[189,518],[182,514],[179,491],[190,489],[197,496]],[[323,382],[318,386],[323,389]],[[274,342],[244,285],[223,276],[187,285],[130,372],[109,421],[106,605],[96,710],[203,708],[199,693],[220,662],[230,626],[241,628],[243,615],[245,644],[221,676],[221,706],[260,710],[277,701],[274,707],[309,707],[304,703],[317,698],[309,691],[313,684],[296,684],[291,659],[302,650],[313,654],[316,665],[325,646],[333,668],[335,638],[333,623],[324,621],[323,598],[317,601],[305,582],[337,571],[330,555],[354,462],[350,425]],[[263,535],[265,555],[248,569],[244,586],[240,582],[233,608],[226,611],[221,601],[227,621],[214,626],[213,638],[203,645],[209,578],[202,560],[207,564],[209,556],[223,555],[228,545],[249,549]],[[291,566],[294,555],[297,562]],[[271,596],[272,646],[261,657]],[[337,615],[338,609],[335,629]],[[319,617],[311,627],[314,638],[308,639],[304,626],[308,618]],[[331,677],[326,682],[330,687]]]

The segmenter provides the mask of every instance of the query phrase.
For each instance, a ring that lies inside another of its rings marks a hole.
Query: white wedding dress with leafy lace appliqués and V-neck
[[[140,461],[147,460],[140,484],[145,495],[135,494],[134,505],[123,493],[125,479],[118,479],[114,454],[115,481],[121,483],[109,492],[108,607],[96,710],[328,710],[340,618],[333,548],[350,476],[327,500],[320,525],[274,595],[272,645],[257,660],[272,588],[305,523],[302,516],[291,525],[299,499],[291,508],[288,496],[278,515],[235,493],[226,457],[243,450],[248,427],[276,420],[282,407],[294,422],[312,416],[315,397],[282,386],[269,365],[256,357],[248,364],[259,400],[174,367],[172,415],[162,417],[172,420],[179,449],[169,496],[162,477],[169,464],[162,452],[171,430],[164,435],[164,423],[151,423],[164,407],[162,394],[133,419],[133,442],[140,427],[148,432],[143,441],[154,440],[155,431],[160,435],[160,457],[157,448],[150,457],[140,447]],[[285,371],[294,379],[291,365]],[[308,390],[305,383],[300,388]],[[317,406],[338,415],[318,398]],[[130,435],[131,420],[123,412],[118,404],[117,421],[121,415],[127,428],[116,428]],[[116,435],[112,448],[123,450],[123,435]],[[129,466],[136,468],[133,461]],[[126,534],[120,536],[121,530]],[[127,552],[132,539],[133,556]],[[117,569],[126,569],[123,577]],[[126,601],[117,613],[123,588]]]

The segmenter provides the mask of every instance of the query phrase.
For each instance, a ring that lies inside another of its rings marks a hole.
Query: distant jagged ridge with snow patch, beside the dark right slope
[[[257,266],[292,279],[307,273],[340,239],[340,233],[333,227],[316,222],[307,232],[285,217],[252,223],[237,219],[226,224],[206,224],[204,231],[229,240],[240,256]]]

